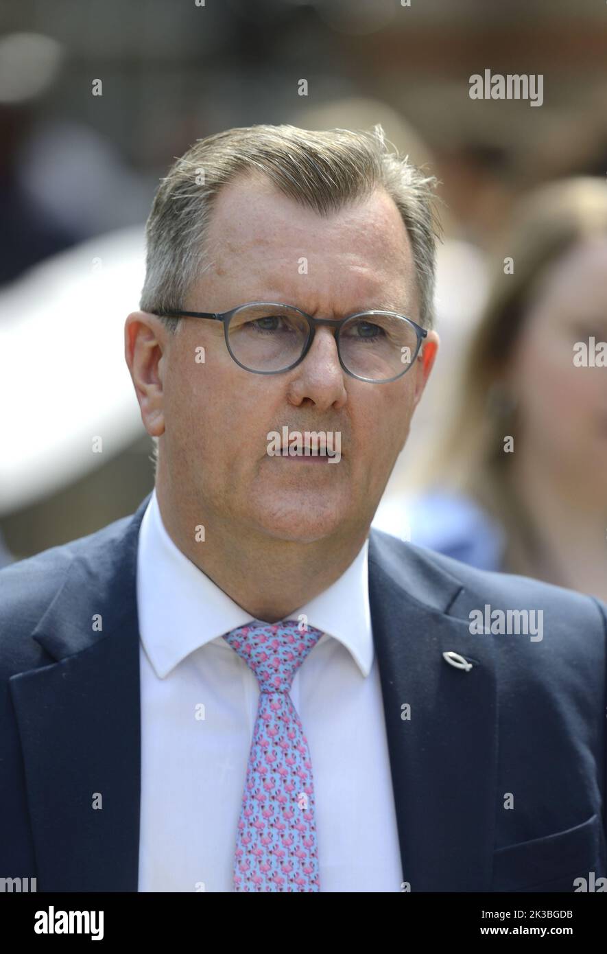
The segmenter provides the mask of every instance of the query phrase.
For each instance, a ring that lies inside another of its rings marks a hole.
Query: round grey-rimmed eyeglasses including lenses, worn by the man
[[[249,301],[230,311],[155,312],[165,318],[223,321],[228,351],[253,374],[280,374],[302,362],[319,325],[335,329],[339,363],[358,381],[387,384],[406,374],[428,331],[392,311],[361,311],[338,321],[313,318],[294,305]]]

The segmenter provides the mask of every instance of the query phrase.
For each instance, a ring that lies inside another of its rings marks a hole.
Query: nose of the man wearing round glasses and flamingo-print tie
[[[319,408],[341,407],[346,402],[345,372],[339,363],[334,330],[316,328],[304,360],[293,368],[289,398],[293,404],[309,399]]]

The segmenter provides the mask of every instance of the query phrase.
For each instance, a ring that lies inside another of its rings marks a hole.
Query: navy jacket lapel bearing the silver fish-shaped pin
[[[489,891],[497,811],[492,641],[448,615],[462,590],[454,577],[376,530],[369,581],[405,881],[412,891]],[[473,668],[445,662],[450,650]]]

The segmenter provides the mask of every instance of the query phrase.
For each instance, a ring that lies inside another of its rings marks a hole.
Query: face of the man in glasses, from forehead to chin
[[[217,198],[209,248],[212,268],[186,310],[278,301],[339,319],[394,302],[419,320],[409,239],[383,191],[323,218],[270,182],[240,177]],[[162,360],[168,483],[201,523],[207,514],[236,535],[306,543],[368,527],[433,363],[435,334],[426,341],[425,360],[407,374],[369,384],[344,373],[334,329],[323,326],[297,367],[259,375],[233,362],[220,321],[182,319]],[[204,363],[195,360],[200,345]],[[269,455],[268,434],[285,425],[290,433],[339,432],[341,459]]]

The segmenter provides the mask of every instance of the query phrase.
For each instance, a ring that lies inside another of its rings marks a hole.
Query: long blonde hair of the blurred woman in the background
[[[502,378],[548,266],[577,242],[606,233],[603,179],[556,181],[520,199],[499,242],[489,298],[465,352],[453,413],[417,471],[417,485],[468,495],[506,527],[504,570],[530,573],[530,560],[538,557],[527,515],[509,481],[512,455],[503,452],[504,435],[516,433],[517,409]],[[505,257],[514,259],[512,274],[505,272]]]

